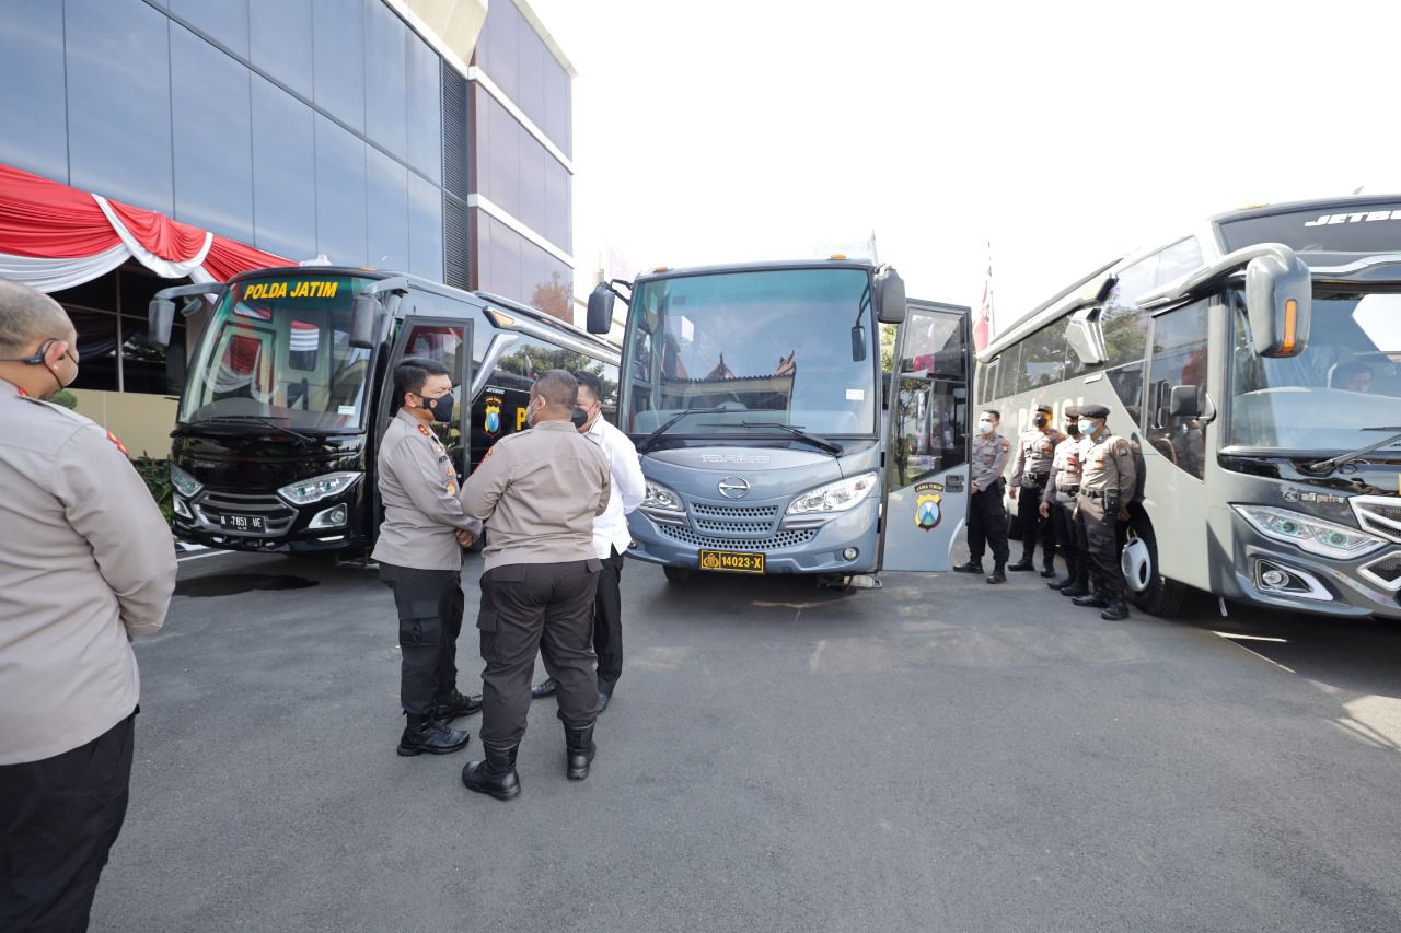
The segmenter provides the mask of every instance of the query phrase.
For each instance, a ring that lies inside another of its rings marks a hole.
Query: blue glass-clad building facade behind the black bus
[[[572,78],[525,0],[6,0],[0,165],[572,319]],[[52,294],[80,410],[160,455],[178,387],[146,305],[181,280],[149,265]]]

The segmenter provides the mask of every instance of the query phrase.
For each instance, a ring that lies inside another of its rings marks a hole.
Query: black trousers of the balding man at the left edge
[[[85,745],[0,765],[0,930],[85,930],[126,820],[132,713]]]

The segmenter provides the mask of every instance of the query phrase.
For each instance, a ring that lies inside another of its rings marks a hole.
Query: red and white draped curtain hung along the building
[[[136,259],[163,279],[224,282],[291,265],[207,230],[0,165],[0,279],[71,289]]]

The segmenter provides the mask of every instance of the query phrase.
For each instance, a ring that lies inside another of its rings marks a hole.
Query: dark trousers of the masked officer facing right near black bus
[[[381,563],[380,579],[399,611],[399,702],[405,713],[432,716],[434,702],[457,689],[462,574]]]

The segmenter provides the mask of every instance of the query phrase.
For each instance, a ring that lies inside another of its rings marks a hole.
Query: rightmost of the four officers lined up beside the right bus
[[[1076,605],[1098,607],[1100,618],[1118,621],[1128,616],[1124,605],[1124,573],[1119,570],[1118,524],[1128,521],[1128,504],[1138,488],[1133,447],[1104,424],[1110,409],[1104,405],[1080,406],[1083,468],[1076,516],[1080,548],[1087,555],[1094,590],[1075,597]]]

